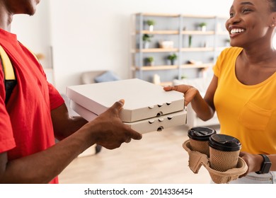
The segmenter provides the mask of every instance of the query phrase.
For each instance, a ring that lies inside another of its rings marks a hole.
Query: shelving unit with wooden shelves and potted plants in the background
[[[146,26],[147,20],[156,22],[154,30]],[[134,15],[132,33],[132,77],[152,81],[151,77],[158,74],[161,84],[171,84],[173,79],[195,78],[202,70],[214,64],[217,55],[226,47],[229,38],[224,27],[226,18],[218,16],[191,16],[168,13],[137,13]],[[207,30],[197,29],[198,23],[207,23]],[[151,35],[149,48],[143,46],[143,35]],[[189,43],[189,37],[191,43]],[[161,48],[161,40],[173,42],[171,48]],[[176,64],[168,64],[166,57],[177,54]],[[154,66],[146,66],[145,58],[154,57]],[[188,63],[195,60],[196,64]],[[189,70],[189,71],[188,71]]]

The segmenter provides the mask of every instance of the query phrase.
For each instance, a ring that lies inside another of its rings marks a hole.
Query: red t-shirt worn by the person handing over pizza
[[[8,161],[43,151],[54,145],[51,110],[64,103],[33,54],[16,35],[0,29],[0,45],[11,59],[17,85],[8,104],[0,64],[0,153]],[[35,168],[35,167],[34,167]],[[51,183],[57,183],[57,177]]]

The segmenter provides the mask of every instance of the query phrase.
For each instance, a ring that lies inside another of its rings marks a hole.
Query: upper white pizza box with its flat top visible
[[[135,122],[184,109],[184,95],[137,78],[67,87],[67,97],[100,115],[120,99],[122,122]]]

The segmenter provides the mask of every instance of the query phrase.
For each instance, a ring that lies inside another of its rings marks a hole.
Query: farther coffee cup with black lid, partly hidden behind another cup
[[[199,151],[209,156],[209,137],[217,134],[214,129],[209,127],[193,127],[188,130],[190,147],[192,151]]]

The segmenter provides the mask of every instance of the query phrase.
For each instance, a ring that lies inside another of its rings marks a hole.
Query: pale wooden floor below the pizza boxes
[[[215,127],[214,127],[215,128]],[[199,173],[188,167],[188,153],[183,142],[188,128],[173,127],[144,134],[120,148],[76,158],[60,175],[64,184],[182,184],[209,183],[209,173],[202,166]]]

